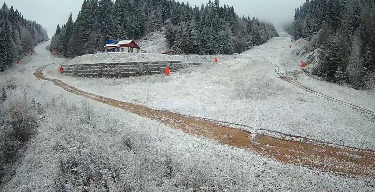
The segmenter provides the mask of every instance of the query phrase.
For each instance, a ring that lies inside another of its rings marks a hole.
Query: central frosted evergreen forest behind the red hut
[[[65,57],[91,54],[107,39],[139,39],[162,28],[169,46],[185,54],[240,53],[278,36],[273,24],[238,17],[219,0],[200,8],[174,0],[84,0],[75,22],[70,14],[57,26],[51,48]]]

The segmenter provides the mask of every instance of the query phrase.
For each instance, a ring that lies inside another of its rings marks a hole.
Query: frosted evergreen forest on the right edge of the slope
[[[308,0],[296,9],[287,28],[296,39],[311,39],[319,48],[312,73],[356,89],[375,85],[375,2]]]

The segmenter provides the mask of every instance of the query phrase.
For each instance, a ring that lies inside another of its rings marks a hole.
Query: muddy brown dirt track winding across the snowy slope
[[[335,172],[351,177],[375,178],[375,151],[340,147],[333,144],[328,145],[323,142],[293,136],[289,136],[291,140],[280,139],[220,125],[217,121],[154,110],[146,106],[101,97],[81,91],[61,80],[45,77],[42,71],[48,66],[49,65],[37,68],[34,72],[34,76],[39,80],[50,81],[68,92],[114,107],[119,107],[127,112],[153,119],[183,132],[204,136],[205,138],[218,141],[221,144],[244,148],[284,163],[293,163],[320,171]],[[301,142],[299,140],[304,141]]]

